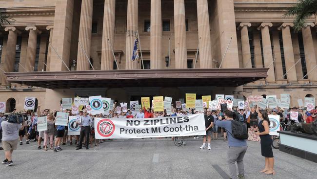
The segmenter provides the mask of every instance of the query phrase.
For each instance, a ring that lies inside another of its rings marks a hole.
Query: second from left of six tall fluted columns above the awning
[[[114,57],[111,46],[115,42],[116,0],[105,0],[102,26],[101,70],[112,70]],[[109,41],[108,41],[109,39]]]

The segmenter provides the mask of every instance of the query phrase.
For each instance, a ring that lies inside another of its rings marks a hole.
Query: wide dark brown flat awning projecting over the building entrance
[[[267,77],[268,68],[136,69],[5,73],[11,83],[46,89],[237,87]]]

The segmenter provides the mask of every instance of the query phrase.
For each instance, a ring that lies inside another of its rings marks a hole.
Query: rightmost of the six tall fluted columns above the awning
[[[200,68],[212,68],[211,38],[209,24],[209,10],[207,0],[197,0],[199,65]]]

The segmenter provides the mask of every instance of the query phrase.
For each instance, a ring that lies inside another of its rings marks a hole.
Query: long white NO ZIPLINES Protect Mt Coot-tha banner
[[[95,118],[96,139],[204,135],[204,115],[143,119]]]

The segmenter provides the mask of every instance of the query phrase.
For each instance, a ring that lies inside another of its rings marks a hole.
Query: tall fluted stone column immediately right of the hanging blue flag
[[[151,0],[151,69],[162,68],[161,0]]]

